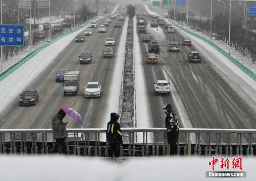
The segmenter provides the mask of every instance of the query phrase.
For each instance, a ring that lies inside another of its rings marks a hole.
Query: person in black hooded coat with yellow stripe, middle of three
[[[107,144],[110,145],[109,148],[109,159],[112,160],[116,156],[116,160],[120,156],[120,144],[123,143],[123,138],[121,134],[120,124],[117,122],[119,115],[116,113],[110,114],[110,122],[107,125]]]

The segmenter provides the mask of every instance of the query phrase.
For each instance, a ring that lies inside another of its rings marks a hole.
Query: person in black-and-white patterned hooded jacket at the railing
[[[177,142],[179,136],[179,124],[176,114],[170,104],[164,106],[166,114],[165,127],[167,129],[167,141],[170,144],[170,154],[177,154]]]

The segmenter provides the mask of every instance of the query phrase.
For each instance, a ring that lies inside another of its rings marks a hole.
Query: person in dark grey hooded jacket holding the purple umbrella
[[[56,140],[55,146],[53,148],[53,153],[64,153],[68,154],[68,147],[66,144],[66,126],[68,122],[63,122],[63,118],[66,116],[66,113],[60,109],[60,111],[53,117],[52,128],[53,136]]]

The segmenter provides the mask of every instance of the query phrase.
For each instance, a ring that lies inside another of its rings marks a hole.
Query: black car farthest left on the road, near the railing
[[[36,105],[39,100],[39,93],[36,89],[25,89],[20,94],[19,105]]]

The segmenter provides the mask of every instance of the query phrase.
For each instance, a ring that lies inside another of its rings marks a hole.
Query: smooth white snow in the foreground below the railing
[[[105,157],[5,155],[0,156],[1,163],[4,163],[0,169],[3,181],[255,180],[254,159],[251,157],[242,158],[242,170],[237,164],[232,168],[233,157],[229,158],[229,169],[225,166],[220,169],[221,157],[216,158],[219,159],[214,165],[216,171],[242,171],[245,178],[207,177],[207,171],[213,172],[212,165],[208,164],[213,157],[120,157],[118,161],[110,161]]]

